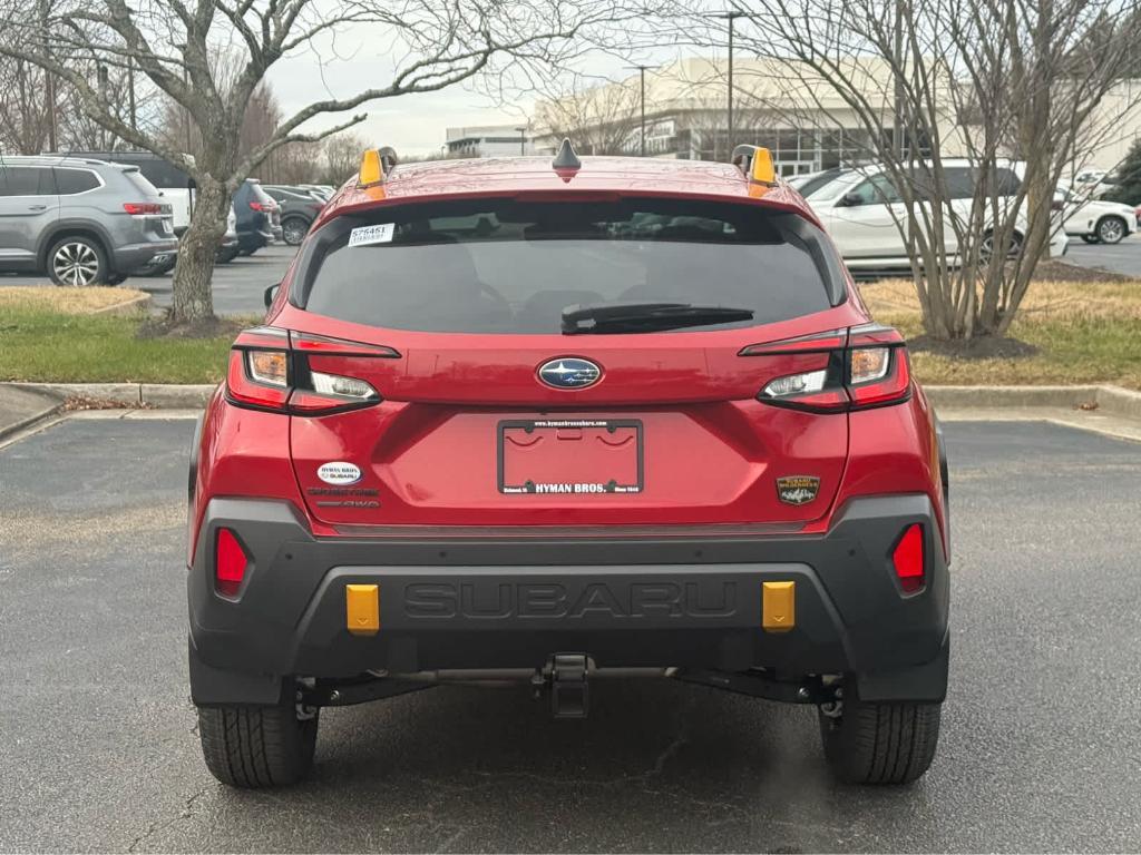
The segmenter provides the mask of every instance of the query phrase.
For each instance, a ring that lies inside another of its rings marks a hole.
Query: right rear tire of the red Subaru
[[[845,700],[837,717],[820,715],[832,773],[845,783],[906,784],[931,766],[941,703]]]

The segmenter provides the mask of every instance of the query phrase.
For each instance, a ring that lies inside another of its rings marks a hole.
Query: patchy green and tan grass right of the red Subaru
[[[923,333],[909,280],[869,283],[860,293],[876,320],[908,339]],[[915,375],[923,383],[947,385],[1110,383],[1141,389],[1141,280],[1035,283],[1011,336],[1038,352],[963,359],[913,349]]]

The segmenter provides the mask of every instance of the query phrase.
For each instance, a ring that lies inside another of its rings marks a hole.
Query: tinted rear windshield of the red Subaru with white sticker
[[[305,251],[296,303],[397,329],[559,333],[564,309],[725,306],[769,324],[843,299],[831,245],[759,205],[626,198],[478,199],[347,215]]]

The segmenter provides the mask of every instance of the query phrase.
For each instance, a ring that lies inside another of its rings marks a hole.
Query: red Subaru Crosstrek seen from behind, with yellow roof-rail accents
[[[931,763],[942,442],[812,211],[734,164],[369,152],[193,446],[189,674],[238,787],[322,707],[601,676],[818,709],[844,781]]]

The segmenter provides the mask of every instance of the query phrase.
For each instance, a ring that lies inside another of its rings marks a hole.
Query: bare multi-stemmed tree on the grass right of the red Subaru
[[[859,129],[890,177],[926,331],[1005,334],[1047,251],[1053,188],[1127,67],[1139,17],[1116,0],[733,5],[763,22],[738,44],[779,82],[742,97],[801,127]],[[976,178],[965,213],[953,156]],[[1011,158],[1025,174],[1003,190]]]

